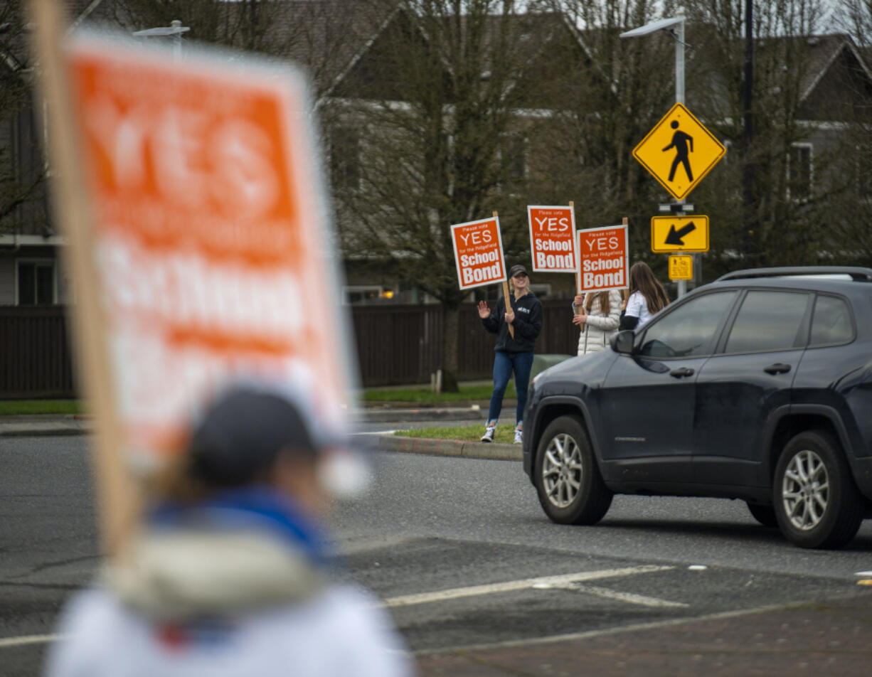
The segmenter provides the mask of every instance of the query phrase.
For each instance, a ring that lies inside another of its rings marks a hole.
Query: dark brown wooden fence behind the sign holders
[[[569,301],[542,301],[537,353],[575,354],[578,330]],[[435,305],[351,307],[364,386],[429,383],[441,366],[442,308]],[[460,308],[460,379],[489,378],[495,336],[481,328],[470,303]],[[73,397],[65,308],[0,306],[0,399]]]

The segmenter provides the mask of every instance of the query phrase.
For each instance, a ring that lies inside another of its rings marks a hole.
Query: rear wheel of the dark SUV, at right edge
[[[808,430],[785,445],[775,468],[773,507],[794,545],[839,548],[855,537],[865,505],[832,435]]]

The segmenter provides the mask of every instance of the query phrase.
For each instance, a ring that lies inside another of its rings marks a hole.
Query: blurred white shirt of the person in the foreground
[[[337,586],[300,605],[233,619],[227,637],[161,640],[112,592],[80,592],[66,610],[46,677],[408,677],[411,657],[378,600]]]

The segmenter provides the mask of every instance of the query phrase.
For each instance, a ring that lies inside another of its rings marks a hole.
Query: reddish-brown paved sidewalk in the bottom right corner
[[[431,677],[865,677],[872,665],[872,605],[858,592],[698,619],[616,627],[498,647],[418,656]]]

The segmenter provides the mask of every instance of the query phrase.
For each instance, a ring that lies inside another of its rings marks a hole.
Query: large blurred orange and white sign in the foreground
[[[352,359],[302,76],[93,36],[68,58],[125,446],[172,452],[236,376],[342,416]]]

